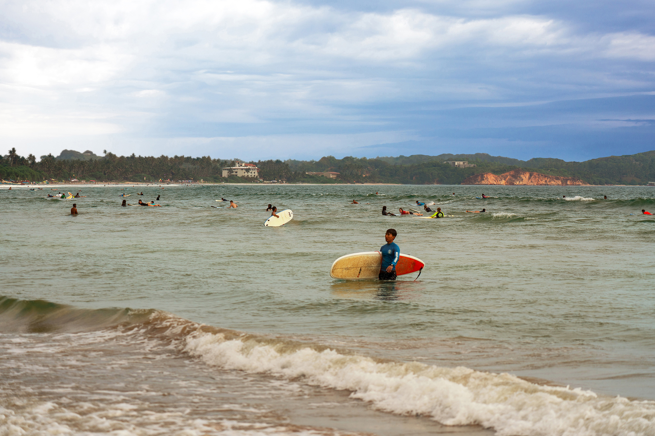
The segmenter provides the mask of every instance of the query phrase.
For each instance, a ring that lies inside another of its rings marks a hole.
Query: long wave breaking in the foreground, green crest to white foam
[[[3,298],[0,322],[7,319],[28,325],[36,320],[58,320],[60,324],[54,328],[86,325],[119,335],[156,338],[207,365],[348,390],[351,397],[368,401],[381,411],[429,416],[449,426],[478,424],[495,429],[498,435],[655,434],[655,401],[542,386],[513,375],[466,367],[379,360],[317,344],[198,324],[160,310],[75,309],[43,300]]]

